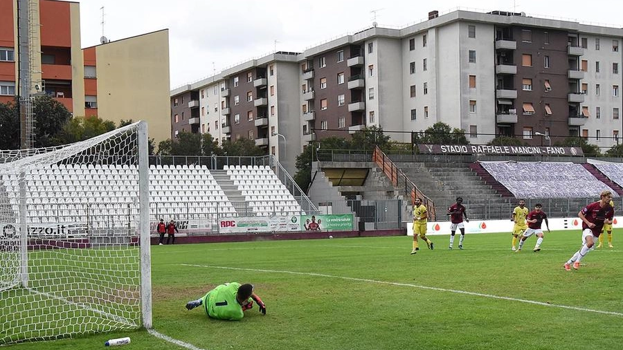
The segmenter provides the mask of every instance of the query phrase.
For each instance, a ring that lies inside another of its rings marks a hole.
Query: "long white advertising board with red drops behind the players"
[[[582,221],[575,218],[553,218],[549,219],[550,230],[581,230]],[[433,221],[426,225],[426,234],[450,234],[450,221]],[[510,220],[476,220],[470,219],[469,223],[464,222],[465,233],[494,233],[512,232],[514,222]],[[613,228],[623,227],[623,217],[614,217]],[[545,221],[541,228],[547,231]],[[460,233],[460,230],[457,230]],[[413,224],[407,223],[407,235],[413,236]]]

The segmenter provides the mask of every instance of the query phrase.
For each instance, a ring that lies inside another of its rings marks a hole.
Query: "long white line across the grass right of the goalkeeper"
[[[254,272],[262,272],[262,273],[288,273],[288,274],[291,274],[291,275],[304,275],[304,276],[315,276],[315,277],[328,277],[328,278],[347,279],[349,281],[356,281],[356,282],[369,282],[369,283],[376,283],[376,284],[388,284],[390,286],[413,287],[413,288],[420,288],[420,289],[428,289],[429,291],[440,291],[440,292],[457,293],[457,294],[464,294],[464,295],[473,295],[473,296],[476,296],[476,297],[489,297],[491,299],[509,300],[509,301],[512,301],[512,302],[523,302],[523,303],[526,303],[526,304],[550,306],[550,307],[555,307],[555,308],[566,308],[568,310],[586,311],[586,312],[590,312],[590,313],[602,313],[604,315],[615,315],[615,316],[622,316],[623,317],[623,313],[617,313],[615,311],[593,310],[592,308],[581,308],[581,307],[577,307],[577,306],[549,304],[549,303],[546,303],[546,302],[536,302],[534,300],[518,299],[516,297],[502,297],[500,295],[483,294],[483,293],[476,293],[476,292],[469,292],[469,291],[460,291],[460,290],[456,290],[456,289],[437,288],[437,287],[429,287],[429,286],[419,286],[417,284],[377,281],[375,279],[327,275],[327,274],[324,274],[324,273],[300,273],[300,272],[296,272],[296,271],[265,270],[265,269],[262,269],[262,268],[233,268],[233,267],[228,267],[228,266],[195,265],[195,264],[181,264],[181,265],[183,265],[183,266],[194,266],[194,267],[200,267],[200,268],[222,268],[222,269],[226,269],[226,270],[242,270],[242,271],[254,271]]]

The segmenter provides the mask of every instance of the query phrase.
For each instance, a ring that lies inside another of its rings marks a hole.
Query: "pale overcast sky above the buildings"
[[[275,49],[303,52],[329,39],[369,28],[403,28],[428,11],[506,10],[584,24],[623,26],[623,4],[612,0],[451,1],[422,6],[406,0],[78,0],[82,47],[169,29],[171,87],[219,73]],[[424,2],[426,3],[426,2]]]

